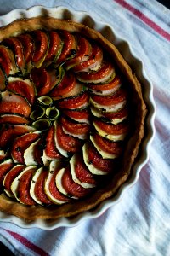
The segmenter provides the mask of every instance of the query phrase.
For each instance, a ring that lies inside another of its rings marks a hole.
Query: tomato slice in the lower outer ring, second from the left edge
[[[22,172],[24,170],[26,166],[14,166],[5,176],[5,180],[3,183],[4,189],[6,189],[8,191],[8,193],[12,193],[11,192],[11,184],[14,181],[14,178],[17,177],[20,172]]]

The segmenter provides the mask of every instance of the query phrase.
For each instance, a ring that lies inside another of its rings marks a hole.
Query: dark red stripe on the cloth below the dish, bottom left
[[[31,241],[27,240],[24,236],[20,236],[19,234],[10,231],[10,230],[6,230],[3,229],[5,231],[8,232],[8,234],[10,234],[11,236],[14,237],[14,239],[20,241],[20,243],[22,243],[25,247],[31,249],[31,251],[41,255],[41,256],[49,256],[48,253],[46,253],[45,251],[42,250],[42,248],[37,247],[35,244],[33,244]]]

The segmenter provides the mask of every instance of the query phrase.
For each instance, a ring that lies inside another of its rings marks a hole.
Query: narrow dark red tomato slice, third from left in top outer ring
[[[26,63],[29,63],[34,52],[33,39],[29,34],[22,34],[18,38],[20,40],[20,43],[23,45]]]

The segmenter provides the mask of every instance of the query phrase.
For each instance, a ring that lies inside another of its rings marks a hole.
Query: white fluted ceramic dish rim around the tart
[[[148,108],[148,114],[145,120],[146,132],[144,135],[144,140],[139,148],[139,155],[133,166],[132,176],[127,180],[126,183],[122,185],[118,193],[111,199],[102,202],[99,207],[94,210],[83,212],[79,214],[76,218],[59,218],[53,221],[46,221],[37,219],[31,223],[26,223],[24,220],[8,215],[6,213],[0,212],[0,221],[10,222],[19,225],[22,228],[41,228],[43,230],[53,230],[58,227],[71,227],[79,224],[82,220],[89,218],[99,217],[100,214],[105,212],[111,206],[114,206],[120,199],[125,191],[130,188],[139,178],[139,172],[149,158],[150,143],[154,136],[154,117],[155,117],[155,104],[152,95],[152,85],[149,79],[146,77],[144,72],[144,65],[142,61],[133,53],[133,50],[124,39],[120,38],[116,32],[113,31],[111,26],[102,23],[99,20],[94,20],[90,15],[85,12],[77,12],[73,9],[65,9],[65,7],[57,8],[44,8],[42,6],[35,6],[31,9],[14,9],[7,15],[0,17],[0,26],[6,26],[14,20],[21,18],[31,18],[40,15],[48,15],[58,19],[69,19],[85,24],[95,30],[101,32],[105,38],[110,40],[116,45],[116,48],[120,50],[125,60],[133,68],[134,72],[137,74],[139,81],[143,86],[144,91],[144,101]]]

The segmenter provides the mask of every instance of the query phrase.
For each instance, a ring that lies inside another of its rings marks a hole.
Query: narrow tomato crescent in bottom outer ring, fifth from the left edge
[[[56,186],[56,183],[55,183],[55,177],[56,177],[58,172],[59,172],[58,169],[56,169],[54,171],[54,174],[53,174],[53,177],[50,180],[48,189],[49,189],[51,195],[54,196],[54,198],[59,199],[61,201],[70,201],[70,199],[68,197],[66,197],[65,195],[62,195],[59,192],[59,189],[57,189],[57,186]]]

